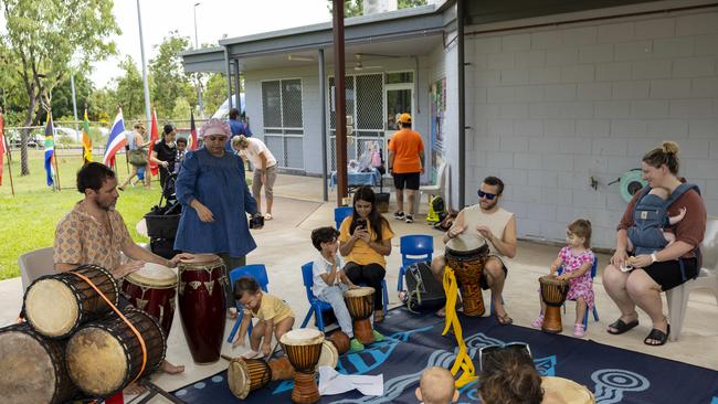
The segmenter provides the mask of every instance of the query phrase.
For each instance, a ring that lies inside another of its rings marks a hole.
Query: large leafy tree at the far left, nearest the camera
[[[115,53],[109,36],[120,30],[112,0],[3,0],[7,34],[0,36],[0,64],[24,89],[22,125],[40,121],[52,105],[52,92],[68,74],[71,60],[83,68]],[[30,173],[27,138],[22,135],[21,174]]]

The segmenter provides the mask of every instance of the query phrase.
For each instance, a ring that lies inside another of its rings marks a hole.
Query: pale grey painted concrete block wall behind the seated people
[[[718,215],[718,9],[469,35],[466,49],[466,204],[496,174],[521,237],[562,240],[583,216],[594,246],[613,247],[626,203],[608,183],[675,140]]]

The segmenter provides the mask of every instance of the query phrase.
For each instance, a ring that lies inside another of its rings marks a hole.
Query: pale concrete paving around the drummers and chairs
[[[270,293],[281,296],[294,309],[297,319],[295,328],[299,326],[308,310],[300,266],[313,259],[316,253],[309,241],[309,234],[315,227],[334,225],[332,210],[336,203],[332,201],[336,199],[330,191],[330,202],[323,203],[320,184],[321,180],[318,178],[279,176],[275,185],[275,219],[267,222],[263,230],[253,231],[260,247],[247,256],[247,263],[262,263],[267,266]],[[392,195],[392,203],[393,200]],[[426,208],[422,205],[421,211],[425,213],[425,210]],[[393,211],[392,206],[390,212]],[[398,268],[401,263],[399,236],[416,233],[432,234],[434,248],[436,252],[441,252],[443,249],[442,233],[425,225],[423,215],[420,215],[413,224],[398,222],[389,216],[388,219],[398,235],[392,241],[393,251],[387,259],[390,305],[395,306],[398,305],[395,293]],[[128,223],[128,225],[134,224]],[[530,322],[538,313],[537,278],[548,273],[548,266],[558,251],[557,246],[519,242],[517,256],[507,261],[509,276],[506,281],[504,300],[515,325],[530,327]],[[604,266],[608,259],[608,255],[599,254],[600,267]],[[710,293],[697,290],[690,294],[688,313],[677,342],[669,342],[664,347],[647,347],[643,344],[643,339],[648,333],[651,323],[644,313],[641,313],[641,325],[625,334],[611,336],[605,332],[606,325],[619,317],[619,311],[601,285],[601,270],[602,268],[594,281],[595,301],[601,319],[598,323],[590,320],[587,339],[718,370],[718,305],[717,299]],[[0,281],[0,323],[13,321],[21,306],[20,278]],[[664,311],[667,312],[667,308]],[[167,357],[175,363],[186,364],[187,371],[182,375],[176,376],[156,375],[154,379],[158,385],[167,390],[193,383],[226,368],[226,362],[223,360],[212,365],[194,365],[192,363],[186,348],[180,319],[177,317],[176,315]],[[570,326],[573,317],[573,305],[569,302],[567,313],[563,316],[566,334],[570,334],[570,327],[566,325]],[[228,321],[226,333],[231,326],[232,323]],[[242,349],[232,351],[228,343],[223,348],[223,352],[230,355],[239,355],[242,351]]]

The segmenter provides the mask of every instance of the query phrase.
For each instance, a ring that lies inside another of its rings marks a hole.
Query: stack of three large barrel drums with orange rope
[[[124,318],[115,313],[108,302],[117,306],[119,294],[113,275],[93,265],[30,285],[28,321],[0,329],[2,402],[109,397],[154,372],[165,359],[165,331],[131,307]]]

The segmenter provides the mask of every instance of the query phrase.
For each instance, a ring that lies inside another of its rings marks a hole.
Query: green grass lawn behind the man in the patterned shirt
[[[30,176],[20,177],[20,152],[13,150],[12,174],[15,195],[10,191],[7,156],[3,160],[2,187],[0,187],[0,279],[20,276],[18,258],[33,249],[53,244],[57,222],[83,199],[75,188],[75,174],[82,166],[80,150],[60,151],[57,161],[62,191],[53,192],[45,184],[42,150],[29,150]],[[118,158],[118,176],[127,178],[124,156]],[[102,161],[94,156],[94,161]],[[129,187],[120,192],[117,211],[122,213],[136,242],[148,240],[137,234],[135,225],[159,202],[159,181],[152,181],[152,189]]]

